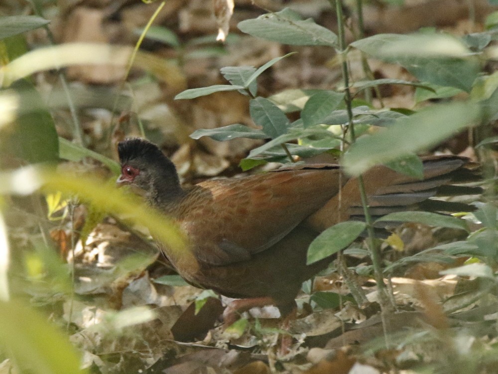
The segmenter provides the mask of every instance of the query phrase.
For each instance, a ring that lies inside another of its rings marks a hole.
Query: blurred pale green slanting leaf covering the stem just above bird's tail
[[[394,125],[356,141],[344,154],[342,164],[352,175],[360,175],[382,164],[430,148],[473,125],[479,118],[473,103],[441,104],[401,118]]]

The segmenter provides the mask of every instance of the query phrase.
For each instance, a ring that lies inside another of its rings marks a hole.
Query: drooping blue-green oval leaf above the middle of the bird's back
[[[263,128],[269,138],[276,138],[287,132],[289,120],[275,104],[263,97],[249,102],[249,113],[254,123]]]

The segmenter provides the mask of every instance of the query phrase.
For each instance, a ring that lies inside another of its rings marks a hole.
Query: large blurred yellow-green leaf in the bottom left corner
[[[0,345],[21,372],[83,373],[80,355],[48,318],[17,302],[0,302]]]

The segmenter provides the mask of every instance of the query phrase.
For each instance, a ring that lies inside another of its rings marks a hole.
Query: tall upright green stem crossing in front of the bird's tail
[[[334,4],[333,0],[329,0],[329,2],[333,6],[333,4]],[[349,88],[348,64],[347,64],[347,60],[345,58],[346,38],[344,35],[344,20],[343,20],[344,16],[343,16],[343,11],[342,11],[342,1],[336,0],[335,5],[336,5],[336,12],[337,12],[338,36],[339,36],[339,51],[338,52],[341,55],[341,65],[342,65],[344,86],[346,87],[345,88],[345,101],[346,101],[346,110],[347,110],[348,119],[349,119],[348,129],[349,129],[350,135],[351,135],[351,143],[354,143],[356,141],[356,135],[355,135],[355,126],[353,123],[353,108],[351,105],[351,101],[352,101],[351,91]],[[378,289],[378,293],[379,293],[380,306],[382,309],[386,309],[388,306],[388,298],[387,298],[387,295],[385,292],[385,284],[384,284],[384,279],[383,279],[383,274],[382,274],[380,247],[378,246],[377,241],[375,240],[375,234],[374,234],[374,230],[373,230],[373,220],[372,220],[372,216],[370,215],[367,192],[365,189],[365,184],[363,182],[362,176],[358,177],[358,187],[360,189],[360,196],[362,199],[363,211],[365,214],[365,221],[367,223],[367,232],[369,234],[367,243],[368,243],[368,247],[370,250],[370,256],[372,258],[374,276],[375,276],[375,281],[377,283],[377,289]]]

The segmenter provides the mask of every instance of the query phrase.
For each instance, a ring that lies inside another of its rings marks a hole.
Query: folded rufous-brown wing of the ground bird
[[[339,190],[337,168],[286,170],[192,187],[178,220],[196,257],[213,265],[248,260],[287,235]]]

